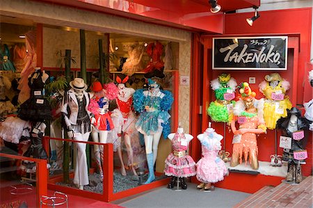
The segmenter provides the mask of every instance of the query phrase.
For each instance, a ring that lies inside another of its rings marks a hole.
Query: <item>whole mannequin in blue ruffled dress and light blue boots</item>
[[[145,153],[149,176],[145,184],[154,181],[154,163],[157,159],[159,140],[163,132],[166,138],[170,133],[170,110],[172,93],[160,90],[157,82],[148,79],[148,90],[139,89],[134,93],[134,109],[139,113],[136,129],[145,139]]]

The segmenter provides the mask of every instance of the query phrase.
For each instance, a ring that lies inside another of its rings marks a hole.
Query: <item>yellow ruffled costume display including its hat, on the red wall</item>
[[[275,129],[278,119],[286,117],[287,109],[291,109],[289,97],[285,95],[289,86],[289,82],[278,73],[266,75],[265,81],[259,84],[259,91],[266,97],[264,120],[268,129]]]

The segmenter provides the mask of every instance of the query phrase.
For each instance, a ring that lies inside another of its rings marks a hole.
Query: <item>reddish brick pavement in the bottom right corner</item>
[[[297,185],[264,186],[235,207],[312,207],[312,176]]]

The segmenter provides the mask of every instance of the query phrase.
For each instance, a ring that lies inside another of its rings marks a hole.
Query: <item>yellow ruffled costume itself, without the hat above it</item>
[[[267,75],[269,76],[269,75]],[[279,76],[280,78],[280,76]],[[263,83],[263,86],[265,87],[260,88],[260,91],[264,94],[266,97],[266,100],[264,102],[264,121],[266,124],[266,127],[268,129],[275,129],[276,122],[280,118],[284,118],[287,116],[287,109],[291,109],[292,104],[289,100],[289,97],[285,95],[288,88],[284,88],[282,86],[282,82],[285,81],[283,79],[278,79],[278,85],[275,87],[272,87],[269,85],[269,82],[264,81],[266,83]],[[287,82],[287,81],[285,81]],[[260,86],[262,83],[260,84]],[[284,99],[282,100],[273,100],[272,99],[272,93],[279,93],[284,95]]]

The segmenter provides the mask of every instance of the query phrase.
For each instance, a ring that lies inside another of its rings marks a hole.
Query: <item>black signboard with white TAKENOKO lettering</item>
[[[213,38],[214,70],[287,70],[287,36]]]

